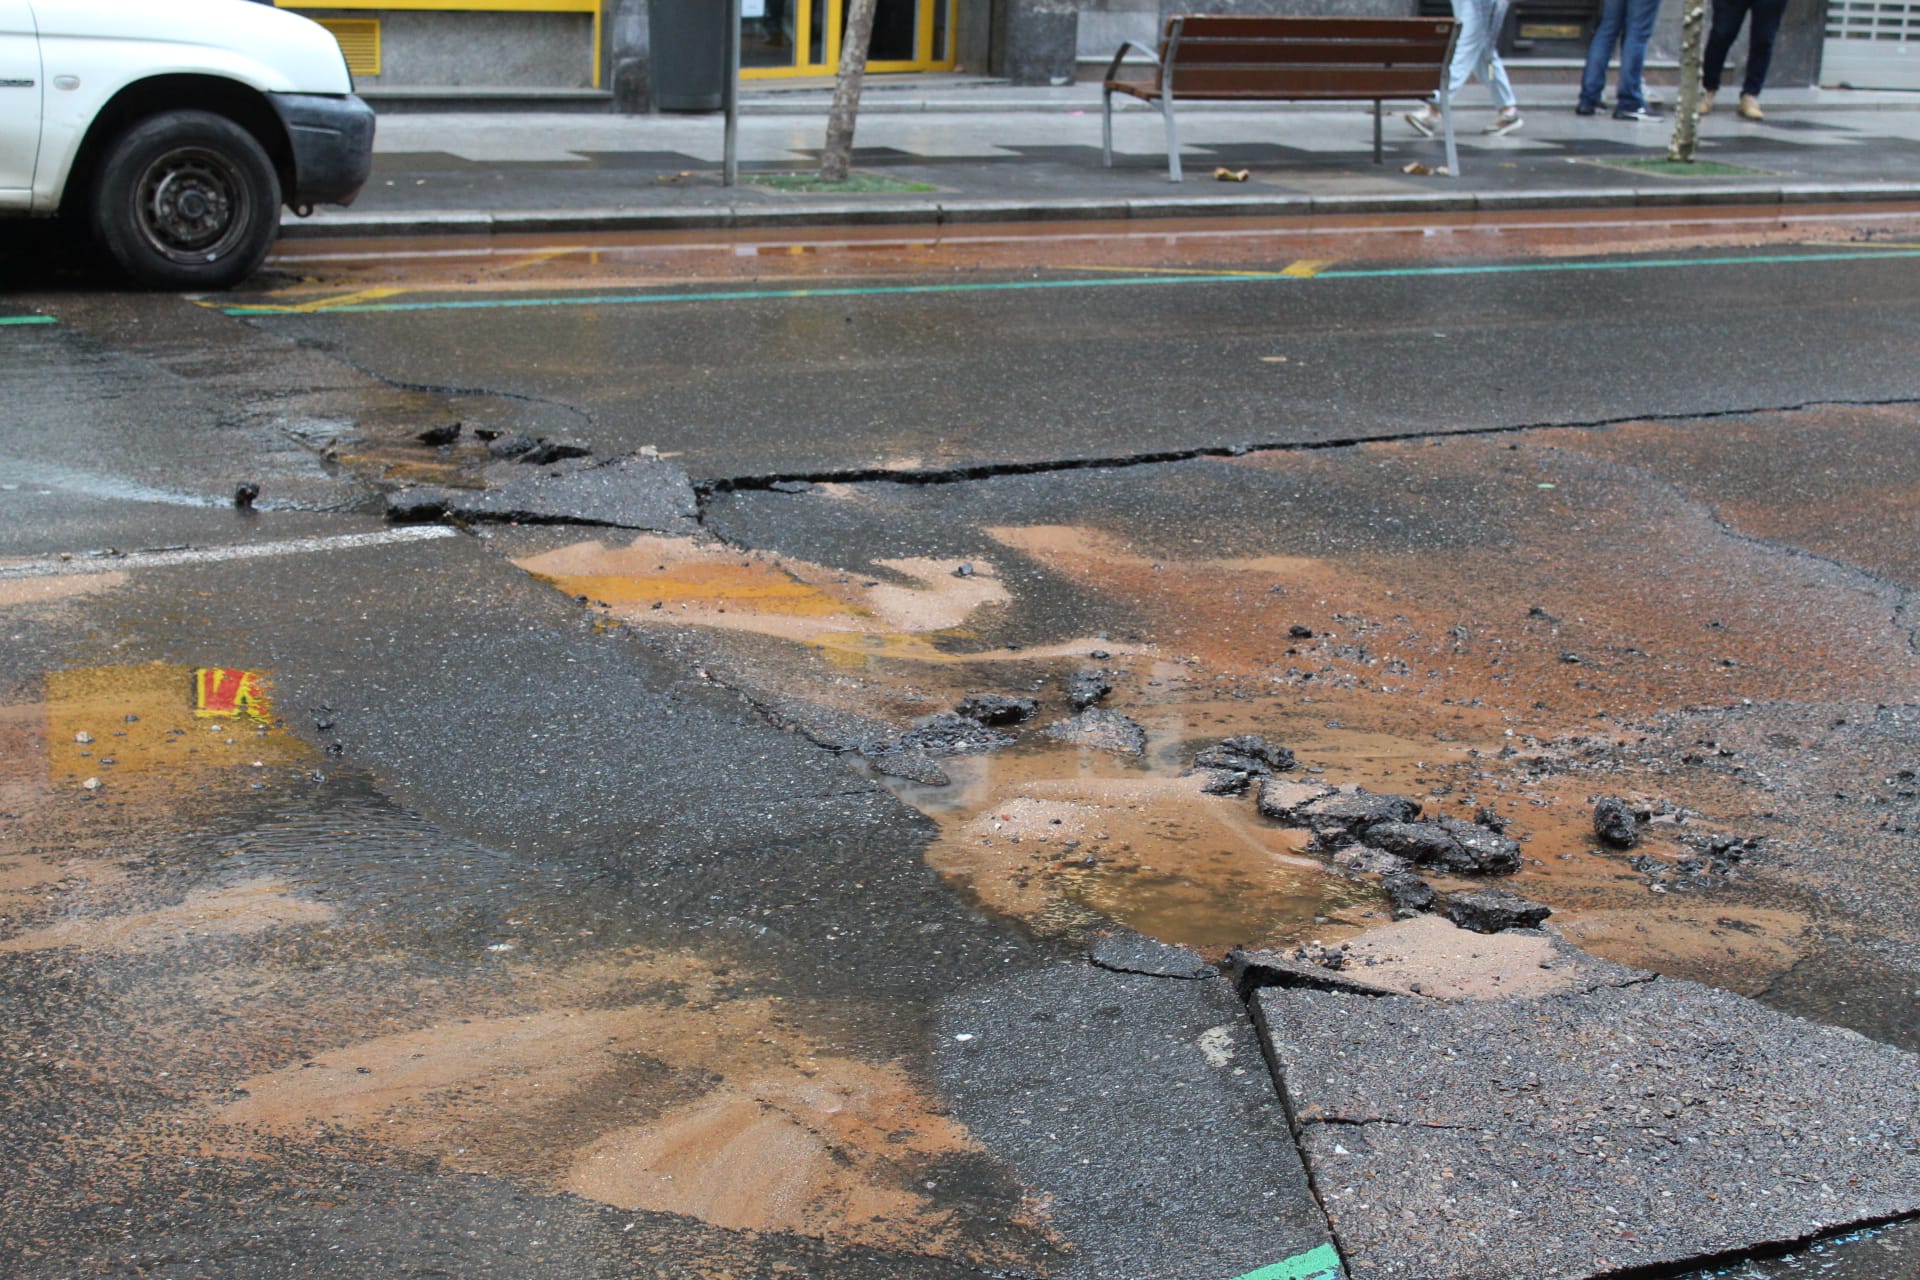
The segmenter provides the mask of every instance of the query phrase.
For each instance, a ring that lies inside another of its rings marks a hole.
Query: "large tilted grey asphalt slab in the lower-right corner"
[[[1743,996],[1254,1002],[1354,1280],[1574,1280],[1920,1213],[1920,1057]]]

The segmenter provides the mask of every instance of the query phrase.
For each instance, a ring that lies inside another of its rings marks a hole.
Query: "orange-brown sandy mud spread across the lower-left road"
[[[906,1061],[812,1031],[724,952],[637,940],[620,894],[397,810],[252,676],[221,716],[165,664],[50,674],[0,710],[12,1096],[46,1123],[10,1144],[36,1182],[242,1221],[248,1171],[474,1174],[624,1215],[553,1245],[570,1274],[772,1274],[753,1240],[776,1270],[814,1249],[854,1274],[1054,1249]]]

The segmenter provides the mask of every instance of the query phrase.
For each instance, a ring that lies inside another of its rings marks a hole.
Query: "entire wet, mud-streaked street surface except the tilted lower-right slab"
[[[1206,791],[1250,733],[1492,819],[1601,960],[1920,1050],[1916,223],[309,242],[13,297],[19,1274],[1319,1274],[1233,988],[1079,960],[1392,917]],[[526,470],[482,430],[651,445],[701,533],[382,518]],[[1094,674],[1137,745],[1085,745]],[[1037,702],[1010,745],[902,745],[981,693]]]

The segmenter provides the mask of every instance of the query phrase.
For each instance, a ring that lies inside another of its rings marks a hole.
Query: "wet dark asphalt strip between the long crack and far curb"
[[[1663,228],[1567,221],[1501,236],[1465,223],[1423,236],[1436,246],[1380,230],[1221,244],[1133,228],[1112,242],[1035,238],[1023,253],[1018,240],[906,238],[895,263],[877,246],[803,242],[810,251],[785,263],[749,253],[747,276],[682,273],[634,290],[609,280],[618,267],[559,276],[566,259],[551,253],[528,288],[522,259],[503,255],[451,292],[415,280],[359,299],[336,288],[338,301],[313,290],[250,301],[317,307],[253,324],[386,382],[511,395],[601,453],[655,445],[697,478],[1916,393],[1920,259],[1878,219],[1830,238],[1759,223],[1747,240],[1764,244],[1630,255],[1582,249],[1630,249]],[[540,273],[555,274],[547,288]]]

